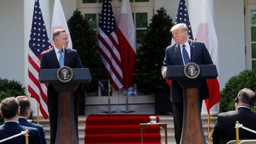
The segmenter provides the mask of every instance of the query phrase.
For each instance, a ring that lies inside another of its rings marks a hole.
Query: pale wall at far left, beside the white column
[[[1,1],[0,21],[0,77],[23,83],[23,1]]]

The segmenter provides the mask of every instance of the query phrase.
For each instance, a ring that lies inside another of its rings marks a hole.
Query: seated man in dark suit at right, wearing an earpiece
[[[256,131],[256,113],[251,111],[255,104],[256,96],[251,89],[241,89],[235,99],[235,111],[219,113],[215,127],[213,129],[213,143],[227,143],[235,140],[235,122],[238,121],[245,126]],[[239,129],[239,139],[256,139],[256,134],[244,129]]]

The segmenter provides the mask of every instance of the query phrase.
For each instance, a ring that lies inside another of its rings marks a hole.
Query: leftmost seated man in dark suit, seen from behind
[[[25,131],[26,129],[28,129],[28,142],[41,144],[40,134],[36,128],[21,126],[18,123],[19,105],[16,98],[9,97],[3,99],[0,104],[0,109],[1,115],[4,117],[4,124],[0,126],[0,140],[4,138],[9,138],[12,135],[16,135],[18,133],[21,133],[21,131]],[[25,136],[20,135],[16,138],[12,138],[11,140],[6,140],[3,144],[10,143],[24,144]]]

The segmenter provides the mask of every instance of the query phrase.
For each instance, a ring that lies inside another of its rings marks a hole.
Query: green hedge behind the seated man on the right
[[[234,110],[235,98],[238,92],[245,87],[256,92],[256,70],[245,70],[228,80],[225,88],[220,92],[220,112]],[[252,111],[256,111],[255,106]]]

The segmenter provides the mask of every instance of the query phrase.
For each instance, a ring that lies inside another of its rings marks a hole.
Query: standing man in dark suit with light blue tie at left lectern
[[[70,68],[81,68],[82,63],[76,50],[68,48],[68,34],[65,30],[57,29],[53,32],[54,48],[43,53],[41,69],[58,69],[65,65]],[[64,52],[63,52],[64,50]],[[64,62],[61,62],[64,59]],[[59,61],[60,60],[60,61]],[[58,123],[58,93],[51,84],[48,85],[48,112],[50,116],[50,143],[55,143]],[[78,126],[78,96],[74,98],[75,124]]]

